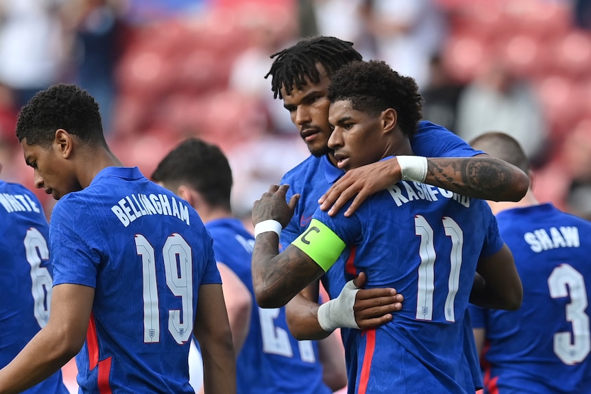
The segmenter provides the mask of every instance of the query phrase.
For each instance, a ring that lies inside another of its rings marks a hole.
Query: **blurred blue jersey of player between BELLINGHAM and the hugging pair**
[[[251,258],[254,237],[238,219],[206,223],[217,262],[226,264],[252,295],[250,329],[237,358],[239,394],[330,394],[322,380],[316,341],[289,333],[285,308],[259,308],[254,300]]]

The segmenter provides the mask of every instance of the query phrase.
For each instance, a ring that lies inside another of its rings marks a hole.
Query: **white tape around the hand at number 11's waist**
[[[357,295],[358,291],[359,288],[350,280],[339,294],[339,297],[325,302],[318,308],[318,324],[322,327],[322,330],[333,331],[339,327],[357,328],[359,330],[353,310],[355,295]]]

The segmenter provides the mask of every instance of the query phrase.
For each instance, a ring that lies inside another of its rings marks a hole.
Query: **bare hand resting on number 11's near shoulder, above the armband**
[[[351,216],[367,197],[380,190],[386,190],[400,180],[402,173],[396,158],[357,167],[347,171],[320,197],[320,209],[328,210],[328,214],[333,216],[354,197],[345,211],[345,216]]]

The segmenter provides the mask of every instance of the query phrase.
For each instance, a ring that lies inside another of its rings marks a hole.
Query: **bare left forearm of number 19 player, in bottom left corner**
[[[21,393],[56,373],[80,348],[69,347],[62,336],[40,331],[10,364],[0,370],[0,393]]]

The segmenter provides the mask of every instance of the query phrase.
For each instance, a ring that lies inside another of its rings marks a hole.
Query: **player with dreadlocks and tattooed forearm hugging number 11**
[[[418,133],[411,137],[411,147],[415,154],[440,157],[426,159],[426,169],[424,158],[414,166],[408,160],[400,163],[397,158],[391,158],[352,169],[339,178],[343,171],[336,167],[337,160],[328,147],[331,132],[328,124],[330,102],[326,95],[333,73],[341,66],[361,60],[361,54],[353,48],[352,42],[319,36],[300,40],[273,57],[275,60],[267,77],[272,76],[274,96],[283,100],[291,121],[298,127],[311,152],[309,158],[285,174],[281,180],[281,184],[290,185],[287,190],[288,199],[293,195],[300,195],[295,214],[281,232],[281,245],[289,245],[306,230],[321,197],[324,201],[321,206],[323,209],[328,209],[334,203],[333,209],[328,210],[329,214],[335,214],[348,199],[355,197],[345,212],[346,215],[352,214],[368,195],[385,190],[400,181],[402,164],[405,164],[405,177],[416,176],[418,173],[416,180],[453,190],[461,195],[517,201],[525,194],[529,181],[527,175],[518,168],[496,158],[481,156],[483,152],[474,151],[452,132],[426,121],[419,123]],[[334,186],[330,187],[332,182],[335,182]],[[341,275],[346,266],[344,262],[339,264],[343,267],[330,269],[322,278],[324,287],[333,298],[339,295],[346,282]],[[357,289],[351,288],[350,291],[354,293]],[[328,332],[314,334],[318,327],[318,304],[314,302],[317,293],[318,286],[315,284],[296,295],[287,305],[289,328],[296,338],[322,338],[328,335]],[[394,289],[392,294],[395,297]],[[289,297],[277,297],[275,301],[279,303],[274,306],[285,304],[288,299]],[[380,305],[394,305],[389,304],[390,302],[393,300],[385,298],[384,304]],[[363,329],[370,328],[370,325],[366,325],[368,322],[374,325],[385,323],[392,318],[389,312],[385,310],[374,315],[368,314],[365,321],[359,321],[355,313],[348,326]],[[469,349],[474,346],[470,324],[466,324],[465,330],[467,341],[472,341],[472,345],[467,346]],[[346,337],[347,330],[341,330],[341,334]],[[343,341],[347,341],[346,338]],[[352,347],[346,345],[346,349]],[[474,358],[470,365],[477,363],[475,350],[468,352],[468,357]],[[477,386],[481,385],[480,372],[477,369],[473,371],[473,378]]]

